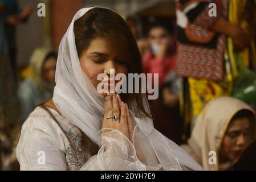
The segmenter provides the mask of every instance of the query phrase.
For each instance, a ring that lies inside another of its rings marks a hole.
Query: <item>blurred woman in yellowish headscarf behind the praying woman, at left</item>
[[[57,53],[51,48],[36,48],[30,60],[30,77],[18,89],[22,122],[32,110],[52,97],[55,86]]]

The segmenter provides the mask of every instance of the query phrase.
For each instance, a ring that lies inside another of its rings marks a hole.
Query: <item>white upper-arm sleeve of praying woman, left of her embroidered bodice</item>
[[[65,154],[49,134],[39,129],[28,132],[22,135],[17,146],[21,170],[67,170]]]

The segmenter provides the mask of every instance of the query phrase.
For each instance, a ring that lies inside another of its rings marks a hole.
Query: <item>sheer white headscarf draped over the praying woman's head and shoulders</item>
[[[56,65],[56,86],[53,101],[65,118],[79,127],[92,141],[100,145],[99,131],[101,118],[104,115],[104,97],[97,93],[90,79],[80,67],[74,34],[75,20],[92,8],[94,7],[79,10],[62,38]],[[147,100],[144,101],[149,111]],[[136,136],[147,165],[156,166],[157,162],[162,166],[162,169],[202,169],[177,144],[159,133],[153,127],[151,118],[136,118],[133,115],[133,110],[136,108],[130,109],[133,126],[135,126],[133,136]],[[100,157],[97,158],[97,160],[100,159]],[[113,163],[115,162],[113,161]],[[111,169],[111,167],[109,168]]]

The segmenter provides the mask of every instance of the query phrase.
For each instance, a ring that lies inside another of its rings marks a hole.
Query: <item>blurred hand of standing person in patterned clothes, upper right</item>
[[[233,30],[233,44],[235,51],[241,51],[249,46],[250,43],[250,34],[245,29],[235,26]]]

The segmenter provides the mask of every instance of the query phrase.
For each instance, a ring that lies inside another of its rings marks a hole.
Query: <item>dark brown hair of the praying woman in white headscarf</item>
[[[141,55],[136,40],[125,20],[112,10],[100,7],[89,10],[75,21],[74,34],[79,57],[82,56],[92,40],[102,38],[125,57],[128,73],[143,73]],[[151,117],[145,110],[142,93],[120,94],[120,96],[129,107],[135,101],[137,116]]]

